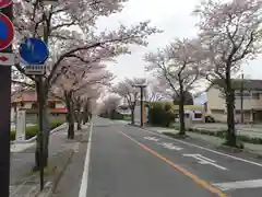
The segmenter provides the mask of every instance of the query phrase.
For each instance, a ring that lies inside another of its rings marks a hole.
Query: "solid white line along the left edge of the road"
[[[90,137],[87,141],[87,149],[86,149],[85,163],[84,163],[85,165],[84,165],[84,172],[82,175],[79,197],[86,197],[86,194],[87,194],[92,132],[93,132],[93,123],[91,124],[91,127],[90,127]]]

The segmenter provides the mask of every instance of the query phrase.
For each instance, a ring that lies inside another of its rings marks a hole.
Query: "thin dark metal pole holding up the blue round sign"
[[[39,121],[39,134],[38,134],[38,140],[39,140],[39,165],[40,165],[40,190],[44,189],[44,101],[41,96],[43,92],[43,79],[41,77],[37,77],[37,96],[38,96],[38,121]]]

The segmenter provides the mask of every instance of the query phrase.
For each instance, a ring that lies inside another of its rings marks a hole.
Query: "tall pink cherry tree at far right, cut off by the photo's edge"
[[[236,146],[235,94],[231,76],[240,65],[261,53],[262,1],[209,0],[194,10],[198,27],[206,49],[206,79],[219,79],[226,97],[228,135],[226,144]]]

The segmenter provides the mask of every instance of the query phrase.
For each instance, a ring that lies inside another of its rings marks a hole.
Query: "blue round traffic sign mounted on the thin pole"
[[[20,45],[20,57],[28,65],[43,65],[48,58],[47,45],[39,38],[26,38]]]

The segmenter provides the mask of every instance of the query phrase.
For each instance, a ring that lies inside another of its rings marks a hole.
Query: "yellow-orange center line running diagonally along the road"
[[[210,192],[216,194],[219,197],[226,197],[227,195],[223,192],[221,192],[218,188],[214,187],[213,185],[211,185],[210,183],[201,179],[200,177],[198,177],[196,175],[192,174],[191,172],[187,171],[186,169],[175,164],[174,162],[171,162],[170,160],[168,160],[167,158],[160,155],[159,153],[155,152],[154,150],[150,149],[148,147],[146,147],[145,144],[136,141],[135,139],[133,139],[132,137],[128,136],[127,134],[119,131],[119,134],[126,136],[128,139],[132,140],[133,142],[135,142],[136,144],[139,144],[141,148],[147,150],[148,152],[151,152],[152,154],[154,154],[155,157],[157,157],[158,159],[165,161],[166,163],[168,163],[169,165],[171,165],[172,167],[175,167],[176,170],[178,170],[179,172],[183,173],[184,175],[187,175],[188,177],[190,177],[191,179],[193,179],[196,184],[201,185],[202,187],[209,189]]]

